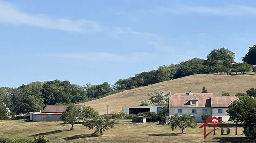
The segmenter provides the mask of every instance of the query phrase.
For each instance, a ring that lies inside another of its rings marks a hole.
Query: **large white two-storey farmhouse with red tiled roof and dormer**
[[[169,116],[189,114],[195,116],[195,122],[204,122],[201,115],[209,114],[227,122],[228,105],[237,99],[237,96],[213,96],[213,93],[175,93],[169,98]]]

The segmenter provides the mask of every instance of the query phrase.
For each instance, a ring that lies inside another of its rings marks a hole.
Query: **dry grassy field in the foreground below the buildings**
[[[198,127],[202,123],[198,124]],[[216,136],[211,133],[203,139],[203,128],[186,128],[184,134],[180,130],[171,131],[168,125],[157,123],[131,124],[130,121],[115,124],[104,132],[103,136],[93,136],[93,130],[88,130],[81,124],[74,125],[75,130],[70,131],[70,126],[63,126],[61,122],[26,122],[24,120],[1,120],[0,137],[31,138],[45,135],[53,143],[56,142],[204,142],[204,141],[246,141],[244,135],[235,136],[235,128],[231,127],[229,135],[221,136],[220,129],[216,130]],[[207,127],[207,132],[212,127]],[[238,128],[238,134],[242,128]]]

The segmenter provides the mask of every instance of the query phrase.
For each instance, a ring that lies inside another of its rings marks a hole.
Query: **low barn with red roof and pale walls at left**
[[[82,105],[75,105],[77,109],[81,109]],[[30,120],[38,121],[61,121],[60,116],[66,111],[67,106],[47,105],[42,112],[34,112],[30,114]]]

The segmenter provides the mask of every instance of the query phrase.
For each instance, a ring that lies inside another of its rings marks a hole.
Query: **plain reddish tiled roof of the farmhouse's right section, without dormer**
[[[211,97],[212,107],[228,107],[232,101],[237,99],[237,96],[213,96]]]

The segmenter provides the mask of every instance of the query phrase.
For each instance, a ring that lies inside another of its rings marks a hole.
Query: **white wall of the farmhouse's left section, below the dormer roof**
[[[182,109],[182,113],[178,113],[178,109]],[[192,113],[192,109],[196,109],[197,113]],[[203,113],[203,109],[207,109],[207,113]],[[188,114],[195,116],[195,122],[203,123],[204,121],[201,120],[202,114],[209,114],[211,116],[211,107],[169,107],[169,114],[170,116],[173,114]]]

